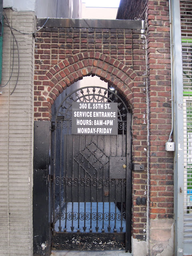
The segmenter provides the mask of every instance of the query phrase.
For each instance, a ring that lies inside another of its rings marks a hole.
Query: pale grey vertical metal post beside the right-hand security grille
[[[180,1],[171,0],[172,15],[172,52],[173,90],[174,90],[174,225],[175,255],[183,256],[184,224],[184,130],[183,130],[183,82],[182,82],[182,46],[180,24]]]

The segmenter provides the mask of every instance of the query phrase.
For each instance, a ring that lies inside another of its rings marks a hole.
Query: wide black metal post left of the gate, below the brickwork
[[[49,256],[50,246],[50,152],[51,122],[34,122],[33,244],[34,256]]]

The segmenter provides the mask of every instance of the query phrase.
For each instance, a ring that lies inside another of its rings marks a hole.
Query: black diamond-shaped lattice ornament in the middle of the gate
[[[92,177],[109,162],[109,157],[95,142],[90,142],[74,160]]]

